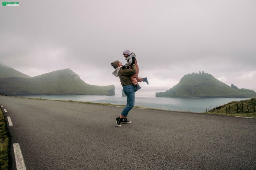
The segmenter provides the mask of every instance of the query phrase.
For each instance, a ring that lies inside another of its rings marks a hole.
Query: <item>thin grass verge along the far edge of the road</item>
[[[18,97],[14,96],[16,98],[25,98],[25,97]],[[34,100],[52,100],[52,99],[39,99],[39,98],[25,98],[25,99],[34,99]],[[83,103],[83,104],[95,104],[95,105],[104,105],[104,106],[118,106],[118,107],[125,107],[125,105],[121,104],[111,104],[111,103],[93,103],[93,102],[80,102],[75,100],[52,100],[52,101],[59,101],[59,102],[73,102],[73,103]],[[165,109],[159,109],[159,108],[148,108],[148,107],[141,107],[141,106],[134,106],[133,108],[143,108],[143,109],[150,109],[150,110],[159,110],[159,111],[170,111],[170,112],[181,112],[181,113],[197,113],[197,114],[214,114],[214,115],[226,115],[226,116],[243,116],[243,117],[252,117],[256,118],[256,112],[240,112],[238,114],[225,114],[221,112],[191,112],[191,111],[175,111],[175,110],[165,110]]]

